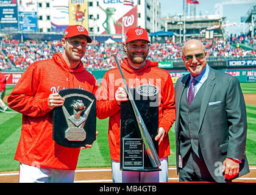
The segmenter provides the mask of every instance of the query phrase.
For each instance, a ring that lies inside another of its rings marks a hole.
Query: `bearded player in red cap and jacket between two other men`
[[[137,88],[149,83],[159,91],[159,129],[155,140],[158,140],[158,156],[162,171],[140,172],[120,171],[120,104],[127,101],[123,80],[118,68],[105,73],[99,89],[97,116],[100,119],[109,117],[108,143],[112,159],[113,182],[168,182],[168,155],[170,145],[168,131],[176,119],[174,104],[174,86],[171,76],[164,69],[158,68],[158,62],[146,60],[149,52],[148,32],[142,28],[127,31],[124,45],[127,57],[121,68],[129,88]]]

